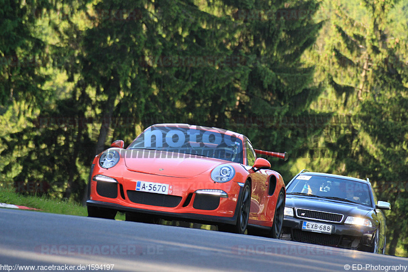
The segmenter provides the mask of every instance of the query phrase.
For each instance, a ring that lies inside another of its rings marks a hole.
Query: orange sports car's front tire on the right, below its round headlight
[[[245,182],[242,190],[242,196],[238,207],[237,223],[235,225],[220,225],[219,231],[244,234],[248,226],[249,209],[251,206],[251,189],[249,182]]]

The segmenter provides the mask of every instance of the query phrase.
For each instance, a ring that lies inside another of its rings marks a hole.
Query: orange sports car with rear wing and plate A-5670
[[[117,140],[95,157],[88,183],[88,216],[155,222],[183,220],[217,225],[221,231],[279,237],[285,184],[232,131],[187,124],[147,128],[126,149]]]

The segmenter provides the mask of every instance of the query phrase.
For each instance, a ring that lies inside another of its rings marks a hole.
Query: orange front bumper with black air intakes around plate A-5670
[[[93,180],[96,175],[110,177],[116,181]],[[171,192],[159,194],[136,191],[138,181],[168,184]],[[204,224],[206,222],[236,224],[237,203],[242,193],[242,187],[238,182],[214,183],[209,181],[206,175],[177,178],[135,172],[125,167],[103,169],[98,165],[92,165],[88,186],[87,206],[105,207],[122,212],[133,211],[157,215],[164,219]],[[202,189],[222,190],[227,195],[196,193],[196,190]]]

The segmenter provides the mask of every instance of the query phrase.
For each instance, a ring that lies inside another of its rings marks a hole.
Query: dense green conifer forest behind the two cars
[[[81,202],[113,140],[214,126],[370,178],[407,256],[407,41],[408,0],[2,1],[0,186]]]

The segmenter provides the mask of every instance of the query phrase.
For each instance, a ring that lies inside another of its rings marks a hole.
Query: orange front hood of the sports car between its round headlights
[[[125,150],[124,161],[131,171],[146,174],[192,178],[227,161],[154,150]]]

